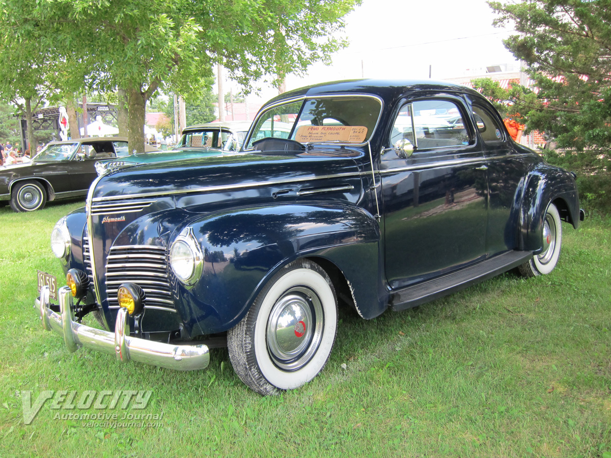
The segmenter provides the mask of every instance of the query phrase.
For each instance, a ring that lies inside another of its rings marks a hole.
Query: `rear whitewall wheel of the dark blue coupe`
[[[560,245],[562,245],[560,213],[556,206],[550,203],[543,220],[543,250],[519,266],[520,273],[524,277],[549,274],[558,263]]]

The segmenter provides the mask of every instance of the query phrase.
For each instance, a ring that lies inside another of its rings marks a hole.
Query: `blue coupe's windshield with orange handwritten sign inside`
[[[362,144],[373,134],[382,104],[367,96],[328,96],[273,107],[258,118],[248,148],[268,137],[301,143]]]

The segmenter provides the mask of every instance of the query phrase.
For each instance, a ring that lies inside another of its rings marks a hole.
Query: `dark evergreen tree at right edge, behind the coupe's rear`
[[[611,3],[529,0],[489,5],[499,15],[497,25],[509,24],[518,32],[505,46],[528,65],[537,91],[536,97],[516,103],[527,128],[557,142],[562,151],[550,153],[550,161],[582,172],[582,195],[608,201]]]

